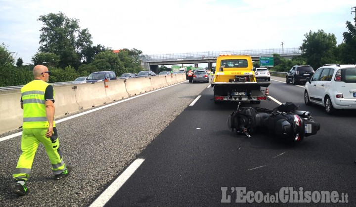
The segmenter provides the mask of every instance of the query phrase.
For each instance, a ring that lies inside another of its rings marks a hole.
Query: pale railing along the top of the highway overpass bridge
[[[196,60],[196,59],[215,59],[221,54],[248,54],[251,56],[262,56],[271,54],[301,54],[298,47],[294,48],[272,48],[272,49],[245,49],[245,50],[225,50],[225,51],[208,51],[208,52],[187,52],[187,53],[168,53],[168,54],[151,54],[142,55],[142,62],[156,61],[177,61],[177,60]]]

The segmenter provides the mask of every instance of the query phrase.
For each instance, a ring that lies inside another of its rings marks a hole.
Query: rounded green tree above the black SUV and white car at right
[[[333,51],[336,49],[336,37],[334,34],[326,34],[323,30],[318,30],[316,33],[310,31],[304,35],[302,57],[307,60],[307,64],[313,68],[319,68],[323,64],[330,63],[334,59],[332,57]]]

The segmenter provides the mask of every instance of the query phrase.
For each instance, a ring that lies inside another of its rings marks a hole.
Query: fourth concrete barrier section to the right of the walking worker
[[[150,77],[126,79],[126,91],[130,96],[153,90]]]

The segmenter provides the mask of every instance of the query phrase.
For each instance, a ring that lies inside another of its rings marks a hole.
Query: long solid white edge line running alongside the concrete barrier
[[[187,81],[180,82],[180,83],[185,83],[185,82],[187,82]],[[82,112],[80,114],[76,114],[76,115],[73,115],[73,116],[70,116],[70,117],[67,117],[67,118],[64,118],[64,119],[56,120],[55,122],[56,122],[56,124],[58,124],[58,123],[61,123],[61,122],[67,121],[67,120],[71,120],[71,119],[74,119],[74,118],[89,114],[91,112],[94,112],[94,111],[97,111],[97,110],[100,110],[100,109],[104,109],[104,108],[109,107],[109,106],[113,106],[113,105],[116,105],[116,104],[119,104],[119,103],[122,103],[122,102],[125,102],[125,101],[128,101],[128,100],[131,100],[131,99],[134,99],[134,98],[138,98],[140,96],[144,96],[144,95],[147,95],[147,94],[150,94],[150,93],[153,93],[153,92],[157,92],[157,91],[160,91],[160,90],[163,90],[163,89],[178,85],[180,83],[176,83],[174,85],[169,85],[169,86],[166,86],[166,87],[163,87],[163,88],[159,88],[159,89],[156,89],[156,90],[153,90],[153,91],[150,91],[150,92],[142,93],[140,95],[135,95],[133,97],[130,97],[130,98],[127,98],[127,99],[124,99],[124,100],[121,100],[121,101],[117,101],[117,102],[114,102],[114,103],[111,103],[111,104],[108,104],[108,105],[105,105],[105,106],[101,106],[101,107],[98,107],[98,108],[95,108],[95,109],[91,109],[89,111]],[[14,133],[14,134],[11,134],[11,135],[8,135],[8,136],[4,136],[4,137],[0,138],[0,142],[5,141],[7,139],[11,139],[11,138],[16,137],[16,136],[21,136],[21,135],[22,135],[22,131]]]

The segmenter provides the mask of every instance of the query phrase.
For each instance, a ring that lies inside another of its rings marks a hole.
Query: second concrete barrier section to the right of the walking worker
[[[104,82],[83,83],[74,89],[77,103],[81,109],[89,109],[105,103],[112,102],[106,95]]]

